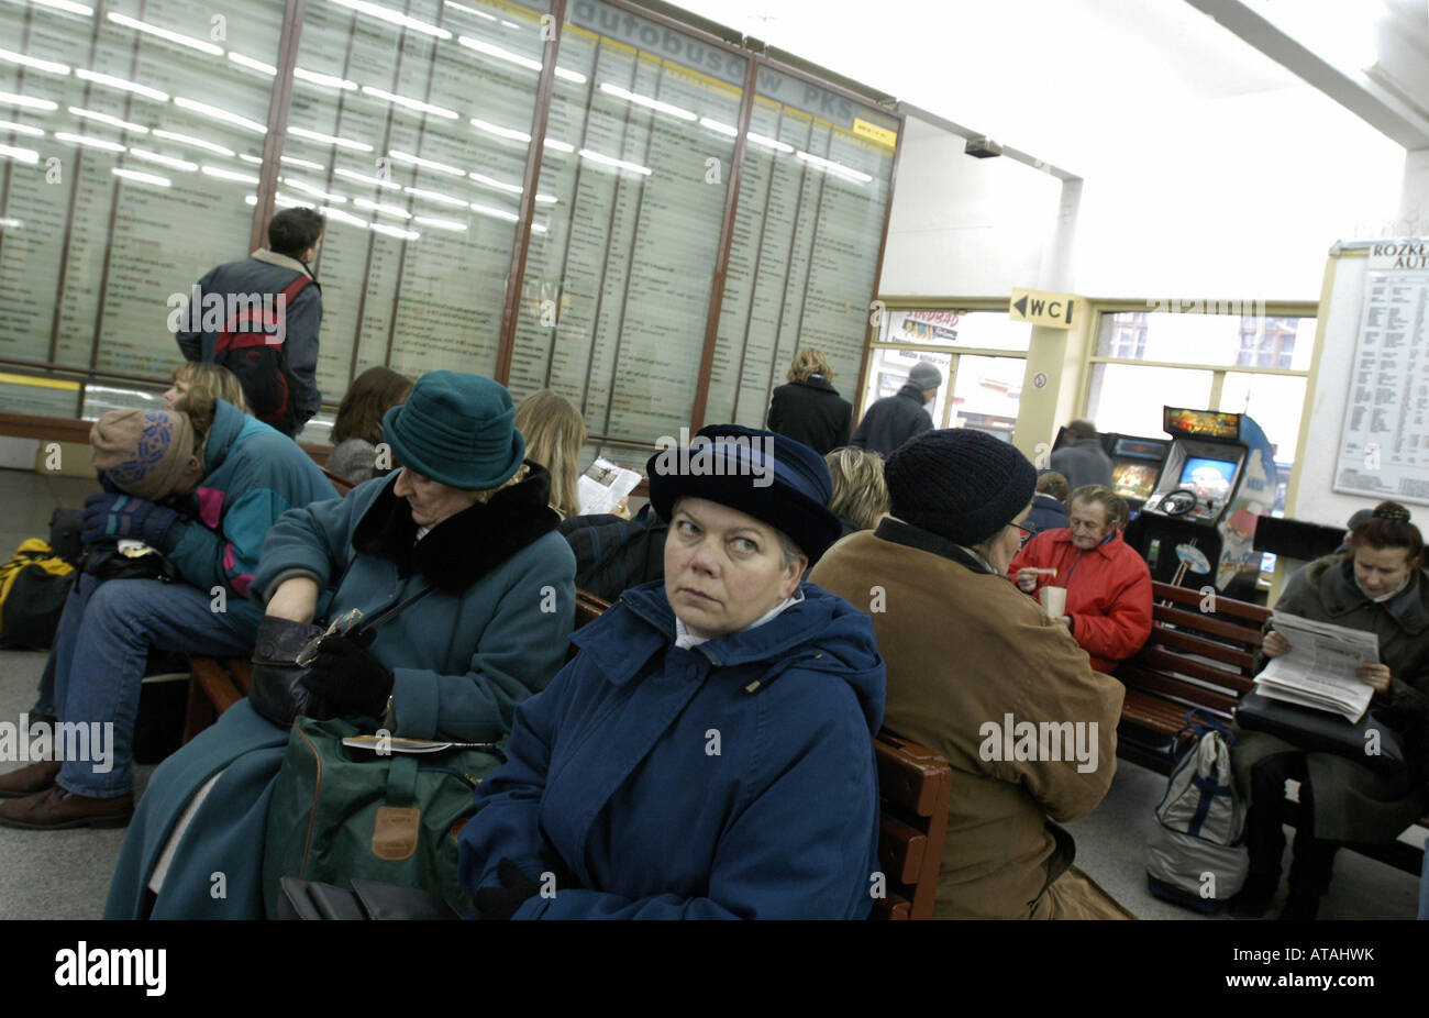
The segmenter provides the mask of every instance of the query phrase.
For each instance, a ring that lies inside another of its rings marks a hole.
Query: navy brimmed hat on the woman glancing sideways
[[[707,425],[689,448],[663,448],[644,466],[650,505],[669,522],[679,498],[709,499],[783,532],[817,562],[839,539],[833,479],[802,442],[739,425]]]

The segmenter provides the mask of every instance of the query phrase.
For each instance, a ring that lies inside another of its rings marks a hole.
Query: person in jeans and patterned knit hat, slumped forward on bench
[[[190,399],[189,413],[111,410],[90,432],[90,449],[111,490],[84,499],[83,540],[143,542],[181,582],[79,578],[51,651],[54,708],[61,723],[93,726],[107,753],[94,759],[91,738],[90,759],[31,764],[0,776],[0,796],[23,796],[0,805],[4,826],[127,824],[134,718],[150,651],[247,658],[263,615],[247,599],[263,535],[289,508],[336,498],[292,439],[223,400],[199,406]]]

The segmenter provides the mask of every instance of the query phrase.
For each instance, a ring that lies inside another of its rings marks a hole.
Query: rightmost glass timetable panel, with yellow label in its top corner
[[[772,67],[756,80],[704,416],[763,426],[802,346],[853,399],[897,120]]]

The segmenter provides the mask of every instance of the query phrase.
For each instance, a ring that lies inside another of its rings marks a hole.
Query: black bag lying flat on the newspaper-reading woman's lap
[[[1236,723],[1248,732],[1265,732],[1293,742],[1306,752],[1345,756],[1386,778],[1409,778],[1408,741],[1375,705],[1365,711],[1359,722],[1350,723],[1338,713],[1286,703],[1252,691],[1240,698]],[[1372,731],[1378,732],[1373,742]],[[1369,752],[1372,745],[1379,752]]]

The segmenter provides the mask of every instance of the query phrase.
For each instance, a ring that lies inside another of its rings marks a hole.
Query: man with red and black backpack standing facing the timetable
[[[233,370],[253,416],[296,436],[323,405],[316,379],[323,295],[309,269],[322,243],[323,217],[314,209],[283,209],[269,220],[267,232],[267,247],[210,269],[194,285],[187,310],[170,313],[169,327],[186,360],[220,363]],[[236,322],[233,332],[266,332],[260,317],[282,322],[277,365],[254,363],[262,349],[273,349],[269,336],[252,345],[256,349],[231,353],[217,349],[219,335]]]

